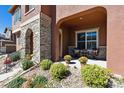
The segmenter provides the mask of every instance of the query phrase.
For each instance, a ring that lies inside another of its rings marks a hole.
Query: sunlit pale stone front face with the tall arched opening
[[[31,29],[33,32],[33,58],[32,60],[35,62],[40,61],[40,19],[36,19],[29,24],[24,25],[21,27],[21,55],[22,58],[25,56],[25,48],[26,48],[26,31]]]

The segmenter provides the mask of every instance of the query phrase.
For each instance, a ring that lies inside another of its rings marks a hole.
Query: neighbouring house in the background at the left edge
[[[12,30],[6,27],[4,30],[4,37],[0,38],[0,54],[12,53],[16,51],[15,36],[12,34]]]

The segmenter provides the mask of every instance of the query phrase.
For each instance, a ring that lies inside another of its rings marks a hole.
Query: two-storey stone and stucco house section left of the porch
[[[32,60],[40,62],[42,58],[51,59],[52,23],[55,23],[55,6],[14,5],[12,30],[16,35],[16,49],[22,57],[33,54]]]

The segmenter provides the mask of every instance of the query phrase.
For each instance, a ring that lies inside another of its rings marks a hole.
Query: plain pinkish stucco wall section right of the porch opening
[[[107,6],[108,68],[124,75],[124,6]]]

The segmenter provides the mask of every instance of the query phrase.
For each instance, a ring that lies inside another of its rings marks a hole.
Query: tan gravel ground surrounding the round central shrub
[[[25,75],[23,75],[24,78],[32,77],[33,75],[43,75],[48,79],[47,87],[50,88],[82,88],[82,80],[80,75],[80,70],[76,68],[68,67],[70,74],[68,77],[62,79],[61,81],[54,80],[49,70],[41,70],[39,67],[33,69],[32,71],[29,71]]]

